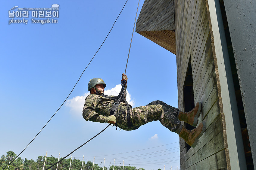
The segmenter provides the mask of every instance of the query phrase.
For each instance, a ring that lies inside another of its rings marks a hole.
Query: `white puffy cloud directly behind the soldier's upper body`
[[[121,84],[116,85],[116,87],[110,89],[110,90],[105,90],[104,94],[108,96],[117,96],[119,92],[121,91]],[[85,98],[90,94],[90,92],[84,93],[83,96],[76,96],[73,97],[72,99],[68,99],[67,102],[65,103],[65,106],[70,108],[70,112],[73,115],[81,117],[82,111],[83,111],[83,105],[84,105],[84,100]],[[135,101],[131,99],[130,93],[126,90],[126,101],[134,106]]]

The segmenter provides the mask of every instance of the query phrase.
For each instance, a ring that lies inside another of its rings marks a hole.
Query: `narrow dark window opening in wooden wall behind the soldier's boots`
[[[189,58],[189,65],[187,68],[185,83],[184,83],[184,87],[183,87],[183,95],[184,95],[184,111],[189,112],[195,107],[191,57]],[[188,123],[185,123],[185,128],[192,130],[195,127],[189,125]],[[189,144],[186,143],[186,152],[190,148],[191,148],[191,146],[189,146]]]

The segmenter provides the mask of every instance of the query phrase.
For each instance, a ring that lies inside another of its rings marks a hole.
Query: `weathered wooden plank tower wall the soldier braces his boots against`
[[[194,102],[202,102],[199,122],[206,131],[195,148],[180,138],[181,169],[229,169],[214,38],[206,0],[174,0],[179,109],[184,110],[184,82],[191,58]]]

